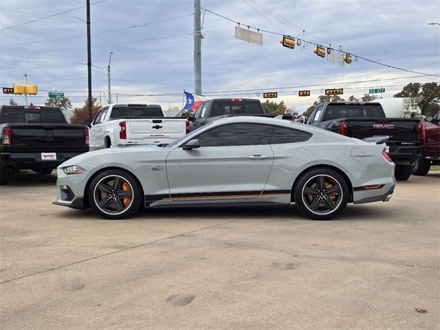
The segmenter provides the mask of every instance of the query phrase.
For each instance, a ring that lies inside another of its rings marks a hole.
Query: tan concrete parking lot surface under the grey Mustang
[[[1,329],[438,329],[440,172],[333,221],[296,209],[52,205],[2,186]]]

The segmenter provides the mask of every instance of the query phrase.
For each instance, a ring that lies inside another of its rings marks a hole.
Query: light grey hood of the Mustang
[[[58,168],[65,166],[78,165],[84,168],[97,166],[98,164],[124,164],[131,161],[160,161],[166,158],[170,152],[169,148],[160,148],[159,146],[128,146],[120,148],[107,148],[96,151],[89,151],[76,157],[73,157]]]

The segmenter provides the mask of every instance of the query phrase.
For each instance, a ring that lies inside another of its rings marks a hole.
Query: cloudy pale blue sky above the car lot
[[[184,104],[193,93],[193,0],[91,0],[93,96],[113,102]],[[0,87],[38,85],[28,102],[64,92],[87,99],[86,0],[0,0]],[[201,0],[201,89],[208,98],[259,98],[303,113],[325,89],[358,98],[372,88],[389,98],[408,83],[440,82],[438,0]],[[263,34],[263,45],[235,39],[235,27]],[[429,23],[437,23],[430,25]],[[300,39],[283,47],[283,34]],[[343,67],[314,54],[316,44],[351,54]],[[382,63],[384,65],[378,64]],[[388,65],[388,67],[386,66]],[[398,67],[400,69],[395,69]],[[407,70],[407,71],[405,71]],[[300,97],[298,91],[310,90]],[[24,104],[24,96],[0,94]]]

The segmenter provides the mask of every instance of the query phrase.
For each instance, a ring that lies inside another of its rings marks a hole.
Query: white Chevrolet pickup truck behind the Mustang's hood
[[[186,118],[165,117],[155,104],[109,104],[90,126],[90,150],[137,144],[168,144],[187,133]]]

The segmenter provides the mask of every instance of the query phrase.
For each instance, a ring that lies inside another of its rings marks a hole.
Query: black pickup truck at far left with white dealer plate
[[[0,106],[0,185],[11,173],[50,174],[65,160],[89,151],[89,129],[68,124],[57,107]]]

